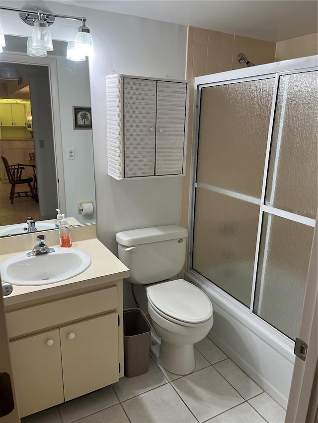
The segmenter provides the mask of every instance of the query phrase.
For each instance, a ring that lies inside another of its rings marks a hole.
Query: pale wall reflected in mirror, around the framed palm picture
[[[92,130],[73,128],[73,106],[91,104],[88,62],[56,59],[66,197],[66,210],[61,213],[75,217],[80,223],[91,223],[96,221]],[[68,148],[74,149],[75,160],[67,159]],[[92,201],[93,214],[79,214],[78,201]]]

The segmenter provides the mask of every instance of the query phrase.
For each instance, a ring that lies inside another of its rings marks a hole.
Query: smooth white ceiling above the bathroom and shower
[[[316,0],[52,1],[274,42],[318,31]]]

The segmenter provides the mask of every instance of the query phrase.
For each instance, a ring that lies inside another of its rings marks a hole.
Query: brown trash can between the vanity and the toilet
[[[124,310],[125,376],[148,371],[151,331],[151,324],[140,308]]]

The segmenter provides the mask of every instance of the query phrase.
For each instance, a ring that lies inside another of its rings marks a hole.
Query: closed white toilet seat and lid
[[[160,316],[183,326],[201,326],[213,313],[208,296],[184,279],[148,286],[147,298]]]

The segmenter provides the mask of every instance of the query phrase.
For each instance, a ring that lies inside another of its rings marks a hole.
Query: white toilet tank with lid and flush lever
[[[130,269],[129,282],[151,284],[177,275],[186,252],[186,229],[176,225],[116,234],[118,258]]]

